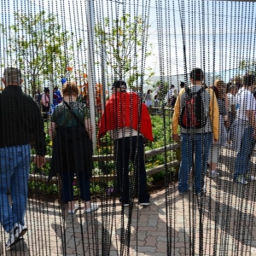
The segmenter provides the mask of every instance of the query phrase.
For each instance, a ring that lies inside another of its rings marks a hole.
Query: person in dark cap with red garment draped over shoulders
[[[99,137],[104,136],[106,132],[110,132],[114,141],[121,203],[126,207],[133,201],[129,190],[129,165],[132,162],[139,203],[148,206],[150,196],[147,192],[143,137],[153,141],[152,123],[147,106],[140,97],[134,92],[126,92],[125,81],[113,83],[113,96],[109,98],[100,119]]]

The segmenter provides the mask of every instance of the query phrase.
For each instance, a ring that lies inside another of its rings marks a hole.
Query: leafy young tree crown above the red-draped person
[[[97,62],[102,67],[106,65],[106,73],[110,73],[111,80],[125,79],[128,86],[138,83],[143,78],[144,83],[150,83],[154,75],[151,67],[145,67],[145,60],[152,55],[152,45],[147,49],[148,27],[142,16],[131,21],[131,15],[124,15],[117,20],[105,18],[97,24],[96,54],[103,55],[105,63]],[[139,84],[135,88],[139,88]]]

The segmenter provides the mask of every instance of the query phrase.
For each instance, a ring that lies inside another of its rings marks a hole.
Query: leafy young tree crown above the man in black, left
[[[23,71],[30,93],[41,88],[45,79],[61,80],[73,61],[73,33],[62,29],[55,15],[45,11],[36,15],[17,12],[14,25],[0,26],[7,42],[4,55]],[[81,43],[79,40],[76,48]]]

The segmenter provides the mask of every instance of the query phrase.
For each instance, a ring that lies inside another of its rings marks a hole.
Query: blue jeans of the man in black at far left
[[[24,225],[30,158],[28,144],[0,148],[0,222],[7,232],[12,230],[16,223]],[[11,206],[6,195],[9,188]]]

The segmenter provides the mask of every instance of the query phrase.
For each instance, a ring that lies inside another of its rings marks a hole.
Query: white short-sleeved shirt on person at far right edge
[[[256,110],[256,102],[253,93],[241,88],[236,94],[236,114],[239,119],[249,120],[247,110]]]

